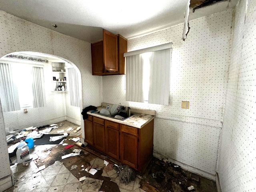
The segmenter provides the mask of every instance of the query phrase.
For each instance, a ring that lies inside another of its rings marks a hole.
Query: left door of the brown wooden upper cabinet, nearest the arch
[[[103,41],[91,44],[92,52],[92,74],[102,75],[104,72]]]

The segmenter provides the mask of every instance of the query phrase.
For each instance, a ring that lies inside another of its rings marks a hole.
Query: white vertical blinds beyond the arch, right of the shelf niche
[[[67,68],[70,104],[71,106],[80,107],[79,89],[78,89],[78,74],[75,68]]]

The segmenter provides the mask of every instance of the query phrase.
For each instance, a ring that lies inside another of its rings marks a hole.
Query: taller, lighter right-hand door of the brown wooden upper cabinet
[[[103,30],[103,58],[105,70],[118,71],[117,36]]]

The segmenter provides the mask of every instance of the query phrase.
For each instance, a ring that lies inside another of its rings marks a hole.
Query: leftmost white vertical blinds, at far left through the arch
[[[12,80],[9,64],[0,63],[0,98],[3,112],[20,110],[18,88]]]

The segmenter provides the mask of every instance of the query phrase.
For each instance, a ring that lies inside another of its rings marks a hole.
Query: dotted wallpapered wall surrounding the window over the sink
[[[128,40],[128,51],[173,43],[168,106],[126,102],[125,76],[102,77],[103,102],[156,110],[156,152],[212,176],[222,126],[231,24],[230,9],[190,21],[185,42],[181,40],[183,24]],[[182,101],[189,101],[190,109],[182,109]]]

